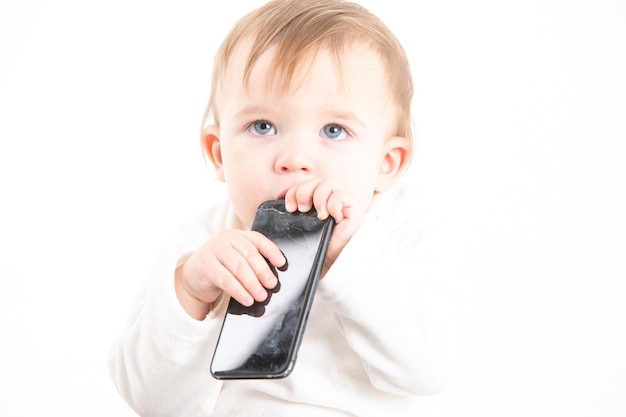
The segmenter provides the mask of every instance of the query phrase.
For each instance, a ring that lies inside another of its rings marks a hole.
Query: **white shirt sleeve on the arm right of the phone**
[[[377,388],[436,394],[464,368],[468,283],[445,248],[449,234],[419,214],[406,189],[378,199],[322,279],[349,346]]]

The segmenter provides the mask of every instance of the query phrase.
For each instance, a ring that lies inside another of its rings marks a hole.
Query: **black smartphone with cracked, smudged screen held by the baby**
[[[291,373],[333,226],[332,217],[322,221],[314,209],[289,213],[284,200],[259,206],[252,230],[280,248],[286,269],[268,262],[278,284],[268,289],[265,301],[246,307],[230,299],[211,361],[215,378],[284,378]]]

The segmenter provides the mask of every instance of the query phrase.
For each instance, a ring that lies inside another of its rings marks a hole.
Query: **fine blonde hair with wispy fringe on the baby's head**
[[[343,0],[271,0],[243,16],[226,36],[215,56],[211,96],[202,127],[212,116],[219,124],[216,95],[233,51],[242,41],[252,42],[244,70],[246,84],[258,58],[275,47],[270,82],[279,79],[286,91],[299,65],[325,49],[340,67],[350,46],[363,42],[376,52],[386,69],[391,100],[397,108],[393,136],[407,139],[412,155],[411,100],[413,81],[406,53],[387,26],[362,6]]]

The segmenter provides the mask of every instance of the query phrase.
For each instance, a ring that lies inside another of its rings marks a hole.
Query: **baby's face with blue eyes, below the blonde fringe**
[[[240,220],[249,227],[260,203],[314,177],[338,184],[368,207],[395,122],[380,59],[357,45],[342,57],[338,72],[322,52],[281,94],[268,88],[272,55],[269,50],[260,57],[244,88],[247,48],[239,48],[215,103],[218,176]]]

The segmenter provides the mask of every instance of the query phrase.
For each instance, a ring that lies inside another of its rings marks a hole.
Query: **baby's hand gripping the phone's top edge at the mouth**
[[[326,252],[324,266],[330,268],[365,217],[365,207],[349,192],[328,181],[312,179],[290,188],[285,195],[287,211],[307,212],[315,207],[324,220],[335,219],[335,228]]]

